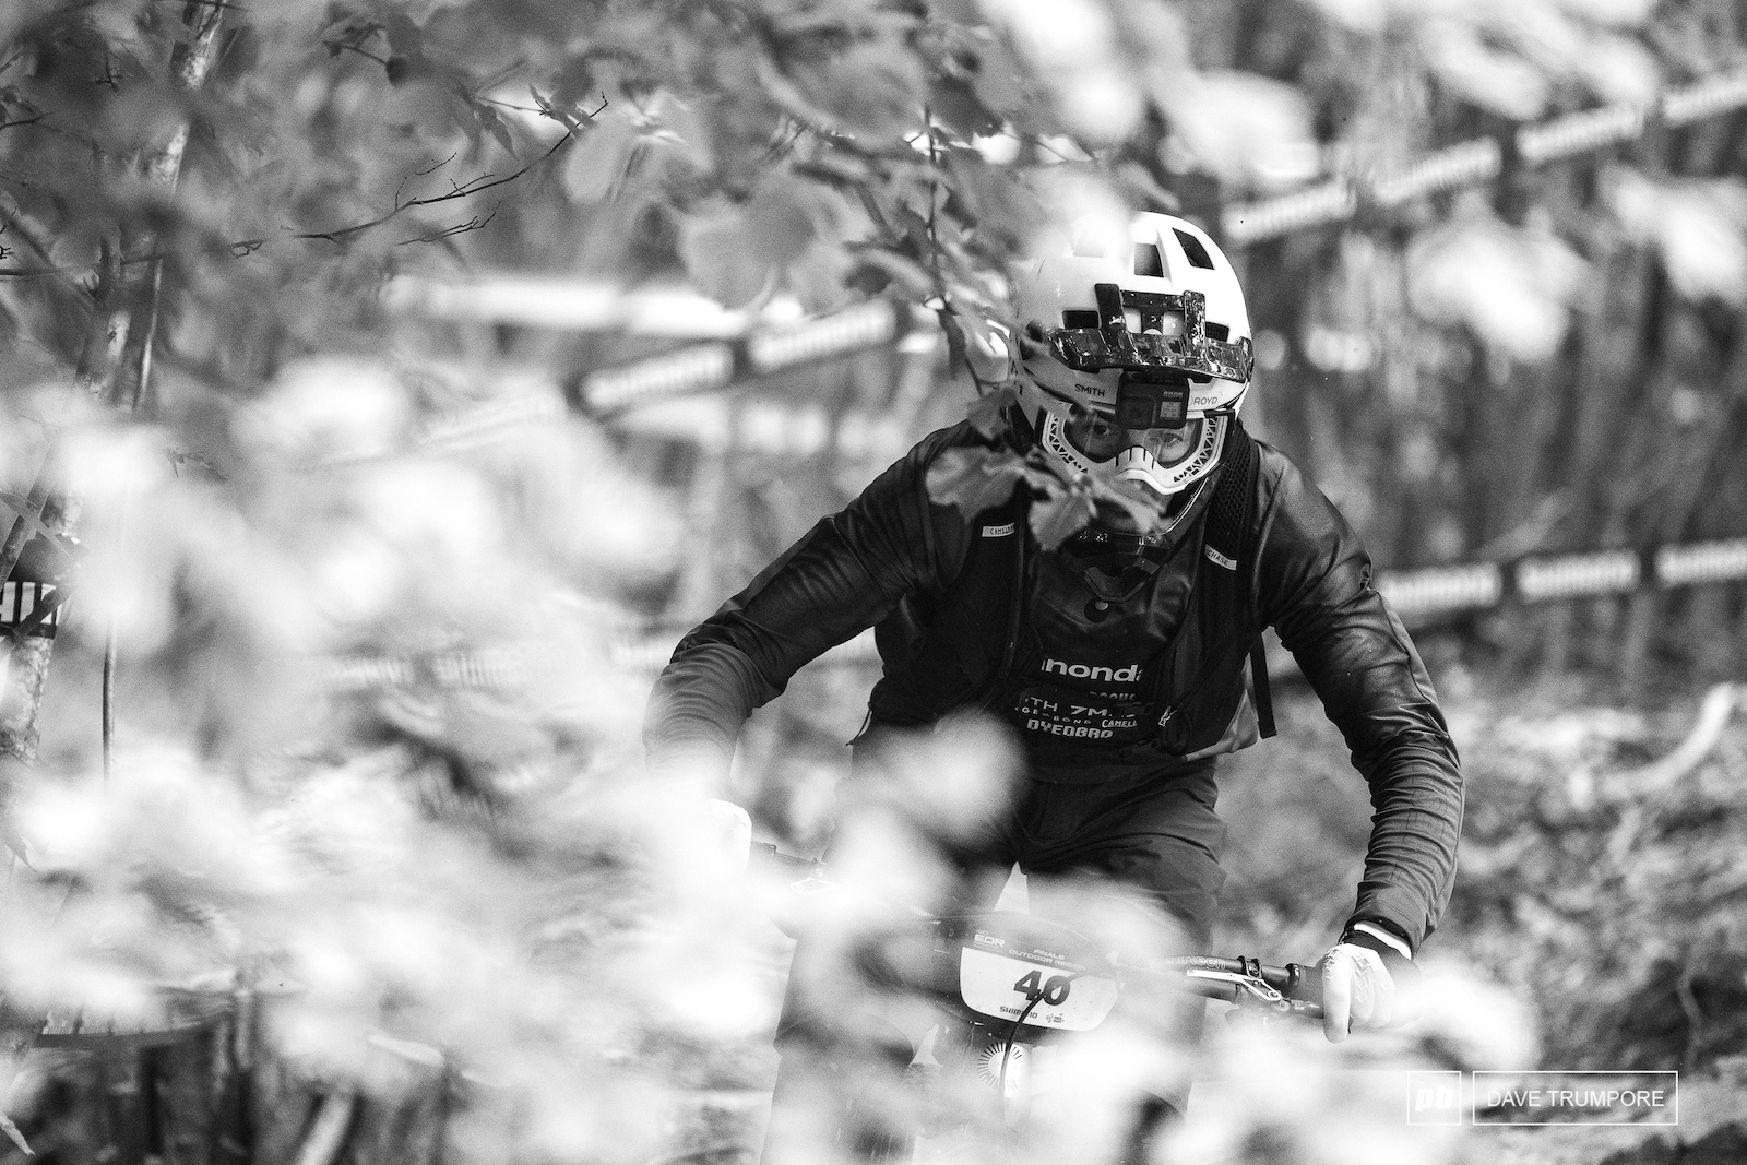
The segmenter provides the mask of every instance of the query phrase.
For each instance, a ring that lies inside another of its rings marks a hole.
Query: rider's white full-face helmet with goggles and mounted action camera
[[[1237,272],[1172,215],[1083,220],[1069,246],[1017,281],[1020,403],[1071,470],[1170,501],[1219,465],[1249,391]]]

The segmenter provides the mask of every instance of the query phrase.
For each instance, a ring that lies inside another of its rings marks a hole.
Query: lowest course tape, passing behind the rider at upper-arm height
[[[1377,589],[1406,622],[1492,611],[1509,603],[1536,604],[1747,582],[1747,538],[1658,547],[1653,552],[1530,555],[1515,562],[1466,562],[1413,571],[1382,571]],[[611,641],[608,662],[620,672],[652,676],[673,657],[687,627],[627,627]],[[825,665],[879,662],[874,632],[842,643]],[[334,693],[435,685],[440,688],[526,688],[528,655],[515,648],[442,651],[419,658],[353,655],[321,660],[318,681]]]

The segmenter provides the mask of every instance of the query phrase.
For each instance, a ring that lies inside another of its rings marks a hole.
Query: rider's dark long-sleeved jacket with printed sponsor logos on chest
[[[942,452],[978,444],[987,440],[968,423],[926,437],[681,639],[652,699],[652,758],[706,746],[725,772],[755,707],[804,664],[875,627],[884,664],[870,697],[875,721],[926,725],[984,707],[1015,725],[1043,779],[1137,767],[1167,779],[1254,742],[1244,660],[1274,627],[1371,789],[1352,920],[1385,922],[1417,950],[1450,896],[1462,779],[1426,667],[1371,589],[1370,557],[1333,503],[1284,454],[1254,442],[1244,479],[1253,486],[1223,494],[1246,494],[1244,550],[1204,545],[1228,456],[1130,599],[1169,643],[1067,676],[1039,632],[1052,611],[1034,610],[1039,594],[1059,594],[1045,583],[1067,550],[1043,552],[1031,538],[1024,491],[973,515],[929,496],[928,470]],[[1053,625],[1059,643],[1062,620]],[[1071,699],[1043,681],[1071,685]],[[1043,713],[1039,725],[1036,709],[1069,704],[1073,714]]]

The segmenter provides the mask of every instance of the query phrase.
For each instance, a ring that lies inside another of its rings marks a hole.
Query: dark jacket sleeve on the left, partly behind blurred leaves
[[[842,512],[821,519],[680,641],[645,716],[652,765],[685,756],[725,777],[755,707],[931,578],[926,468],[935,444],[922,442]]]

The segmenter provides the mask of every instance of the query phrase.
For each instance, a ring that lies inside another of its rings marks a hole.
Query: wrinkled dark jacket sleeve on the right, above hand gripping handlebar
[[[1455,880],[1455,744],[1413,641],[1371,587],[1359,536],[1284,456],[1270,452],[1263,465],[1281,473],[1272,496],[1263,494],[1258,611],[1322,699],[1371,791],[1371,837],[1349,924],[1384,922],[1419,950]]]

